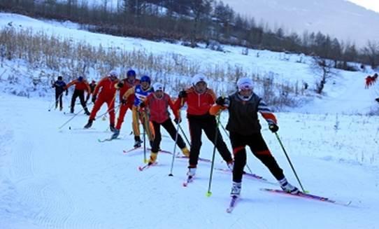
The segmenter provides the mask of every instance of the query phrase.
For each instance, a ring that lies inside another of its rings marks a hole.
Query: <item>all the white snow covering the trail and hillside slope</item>
[[[108,44],[132,50],[186,55],[203,67],[241,64],[252,71],[271,71],[283,81],[306,79],[308,64],[296,63],[296,55],[229,47],[230,53],[191,49],[168,43],[120,38],[75,30],[57,22],[41,22],[21,15],[0,14],[0,24],[71,36],[93,45]],[[30,22],[30,23],[29,23]],[[29,23],[29,24],[28,24]],[[172,51],[171,51],[172,50]],[[0,69],[0,73],[3,69]],[[264,183],[243,179],[241,201],[226,213],[231,173],[213,172],[212,195],[206,197],[210,164],[199,162],[194,183],[182,186],[187,160],[176,159],[173,175],[171,155],[159,153],[159,163],[143,172],[143,151],[124,154],[134,143],[131,112],[127,112],[121,139],[110,137],[108,118],[98,118],[91,130],[83,130],[87,116],[52,110],[53,97],[15,97],[0,93],[0,228],[379,228],[379,117],[364,115],[378,104],[373,90],[364,89],[366,73],[341,71],[327,83],[325,95],[293,112],[276,113],[278,132],[303,187],[315,195],[349,207],[299,197],[266,193],[259,188],[279,188],[269,171],[251,153],[252,172],[268,179]],[[333,82],[333,81],[331,81]],[[3,83],[3,82],[1,82]],[[69,111],[69,98],[64,111]],[[76,111],[80,111],[76,105]],[[105,108],[98,114],[105,112]],[[185,112],[182,112],[183,117]],[[222,114],[222,125],[227,113]],[[264,120],[262,134],[287,179],[299,186],[275,135]],[[71,128],[70,128],[71,127]],[[182,123],[188,134],[187,122]],[[71,130],[70,130],[71,129]],[[229,148],[227,134],[221,130]],[[163,130],[162,134],[168,134]],[[173,141],[162,138],[162,149],[173,151]],[[178,148],[177,148],[178,150]],[[212,157],[213,146],[203,134],[201,158]],[[150,152],[146,152],[147,156]],[[215,167],[227,166],[216,153]]]

